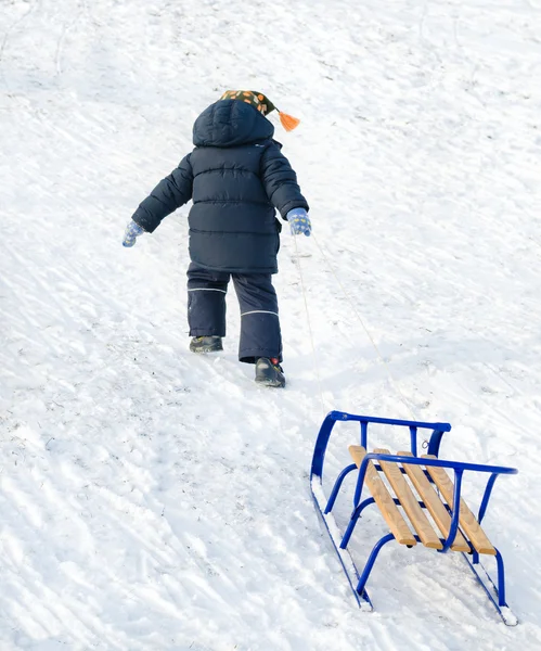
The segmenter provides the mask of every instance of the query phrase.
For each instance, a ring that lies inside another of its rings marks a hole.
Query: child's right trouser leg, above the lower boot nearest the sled
[[[270,273],[232,273],[241,306],[239,359],[254,363],[258,357],[282,361],[282,334],[276,292]]]

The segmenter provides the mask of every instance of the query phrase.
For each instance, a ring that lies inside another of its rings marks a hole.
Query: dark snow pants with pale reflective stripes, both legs
[[[190,336],[226,336],[226,294],[233,280],[241,307],[239,359],[258,357],[282,361],[282,334],[276,292],[270,273],[210,271],[191,263],[188,268],[188,323]]]

